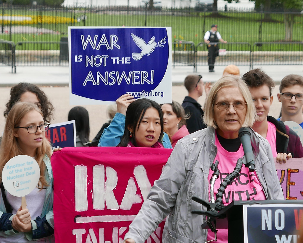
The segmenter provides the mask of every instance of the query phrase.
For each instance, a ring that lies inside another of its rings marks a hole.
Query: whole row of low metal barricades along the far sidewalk
[[[65,39],[62,39],[65,40]],[[219,43],[219,56],[216,66],[254,65],[303,65],[303,42],[245,42]],[[274,51],[273,51],[274,50]],[[59,42],[13,42],[0,40],[0,63],[16,66],[68,66],[68,41]],[[190,41],[172,43],[172,66],[192,66],[197,72],[198,66],[208,65],[208,50],[204,42],[195,45]]]

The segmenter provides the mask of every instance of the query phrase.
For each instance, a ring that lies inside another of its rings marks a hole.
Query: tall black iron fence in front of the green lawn
[[[185,1],[184,1],[185,2]],[[0,39],[60,41],[68,26],[171,26],[172,40],[203,41],[211,24],[228,42],[301,41],[303,15],[297,12],[197,11],[194,8],[83,7],[0,5]]]

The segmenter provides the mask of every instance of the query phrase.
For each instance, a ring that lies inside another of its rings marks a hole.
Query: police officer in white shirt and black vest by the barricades
[[[221,35],[219,34],[218,25],[211,25],[211,30],[207,31],[204,35],[204,42],[208,45],[208,68],[209,72],[215,72],[215,59],[219,53],[218,42],[227,43],[226,40],[223,40]]]

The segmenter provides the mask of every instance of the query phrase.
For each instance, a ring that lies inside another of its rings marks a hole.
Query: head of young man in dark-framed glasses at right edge
[[[295,121],[303,128],[303,77],[296,74],[285,76],[280,83],[278,100],[282,103],[278,121]]]

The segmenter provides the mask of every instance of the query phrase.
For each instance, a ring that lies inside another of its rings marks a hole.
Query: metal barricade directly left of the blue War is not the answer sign
[[[20,41],[16,43],[17,66],[68,66],[60,59],[60,41]],[[65,59],[66,60],[66,59]]]

